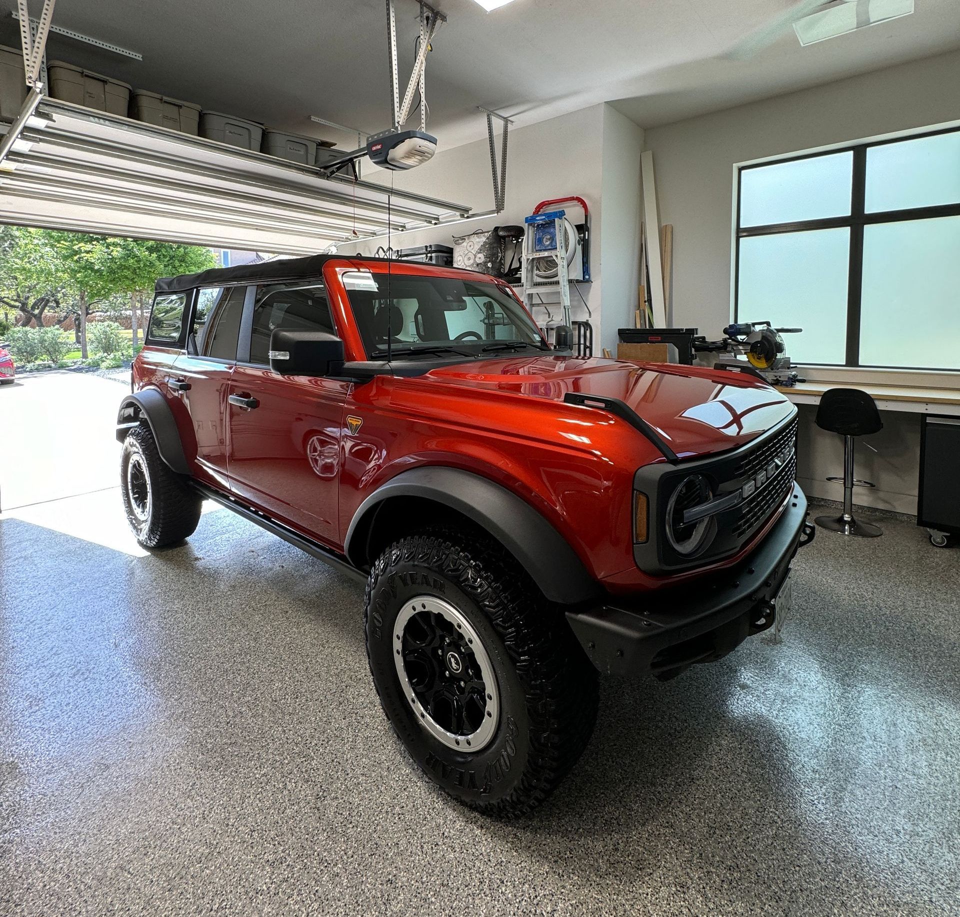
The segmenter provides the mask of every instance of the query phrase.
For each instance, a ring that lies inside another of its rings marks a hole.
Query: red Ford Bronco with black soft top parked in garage
[[[812,537],[777,391],[557,338],[470,271],[207,270],[157,281],[117,421],[144,547],[208,499],[366,582],[396,735],[492,813],[577,761],[597,670],[669,678],[779,627]]]

